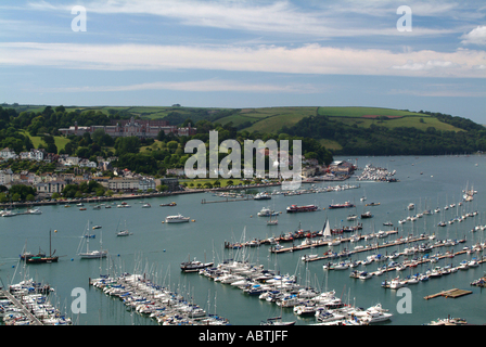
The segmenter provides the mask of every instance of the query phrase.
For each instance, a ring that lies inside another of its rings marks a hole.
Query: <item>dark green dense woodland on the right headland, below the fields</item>
[[[292,128],[283,127],[280,132],[308,136],[316,140],[334,140],[343,146],[342,150],[334,151],[337,155],[440,155],[486,151],[484,127],[469,119],[442,117],[468,131],[442,131],[433,127],[424,131],[413,127],[387,128],[374,124],[369,128],[361,128],[327,116],[312,116],[302,119]]]

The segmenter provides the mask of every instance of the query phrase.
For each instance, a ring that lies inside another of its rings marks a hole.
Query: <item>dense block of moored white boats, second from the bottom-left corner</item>
[[[228,325],[228,320],[190,303],[180,294],[153,283],[144,274],[102,277],[90,284],[118,297],[131,311],[150,317],[161,325]],[[216,310],[216,309],[215,309]]]

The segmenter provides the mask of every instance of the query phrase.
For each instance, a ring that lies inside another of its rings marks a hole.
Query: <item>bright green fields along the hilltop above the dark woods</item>
[[[44,106],[21,105],[18,111],[41,111]],[[437,130],[461,131],[460,129],[442,123],[437,118],[426,114],[410,112],[408,110],[393,110],[381,107],[261,107],[261,108],[242,108],[235,110],[231,115],[221,115],[218,113],[228,111],[228,108],[202,108],[202,107],[177,107],[177,106],[94,106],[94,107],[76,107],[68,106],[68,111],[75,110],[92,110],[101,111],[108,114],[110,111],[122,111],[125,113],[140,116],[143,119],[163,119],[169,114],[177,114],[178,117],[172,119],[192,119],[194,123],[201,119],[213,119],[213,121],[226,125],[232,123],[234,127],[248,132],[278,132],[283,126],[292,127],[304,117],[325,115],[332,120],[342,121],[348,126],[358,126],[369,128],[371,125],[382,126],[386,128],[396,127],[414,127],[426,130],[433,127]],[[389,117],[383,119],[383,116]],[[374,118],[373,118],[374,117]],[[380,118],[381,117],[381,118]],[[40,140],[33,140],[38,143]],[[59,149],[64,147],[65,143],[59,141]],[[328,143],[329,147],[338,147],[336,143]]]

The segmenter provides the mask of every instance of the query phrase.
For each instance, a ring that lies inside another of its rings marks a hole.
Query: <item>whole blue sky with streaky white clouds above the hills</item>
[[[2,0],[0,102],[368,106],[486,124],[486,3]]]

